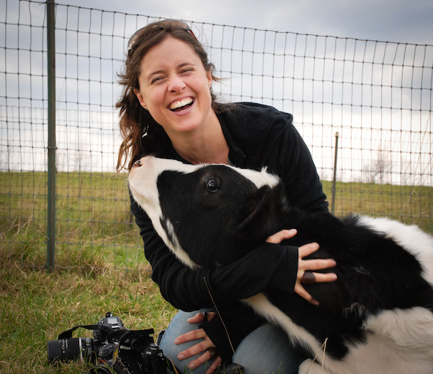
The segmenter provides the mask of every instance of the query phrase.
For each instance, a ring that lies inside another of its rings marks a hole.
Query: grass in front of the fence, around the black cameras
[[[77,267],[47,273],[22,269],[17,262],[1,267],[0,373],[87,373],[87,363],[50,366],[47,341],[77,324],[94,324],[107,311],[129,329],[153,327],[155,338],[168,325],[176,311],[162,299],[149,266],[125,271],[95,261],[98,271]],[[91,336],[91,331],[78,329],[73,336]]]

